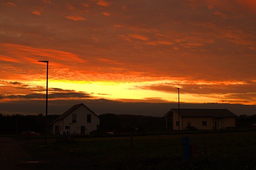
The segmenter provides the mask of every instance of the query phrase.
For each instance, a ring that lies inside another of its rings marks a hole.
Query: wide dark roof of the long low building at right
[[[164,117],[171,112],[179,113],[179,109],[170,109]],[[237,117],[228,109],[180,109],[180,116],[186,117]]]

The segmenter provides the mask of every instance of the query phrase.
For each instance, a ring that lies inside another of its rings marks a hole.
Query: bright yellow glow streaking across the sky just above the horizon
[[[177,102],[177,93],[167,93],[155,90],[145,90],[140,87],[170,83],[170,80],[161,80],[153,82],[86,82],[86,81],[61,81],[50,80],[48,88],[61,88],[64,90],[76,90],[87,92],[96,98],[106,98],[112,100],[134,99],[144,100],[145,98],[160,98],[169,102]],[[46,86],[45,80],[27,82],[28,84],[35,84],[36,86]],[[107,94],[107,95],[104,95]],[[180,102],[216,102],[216,98],[207,98],[202,96],[192,96],[191,94],[180,94]],[[146,102],[146,101],[145,101]]]

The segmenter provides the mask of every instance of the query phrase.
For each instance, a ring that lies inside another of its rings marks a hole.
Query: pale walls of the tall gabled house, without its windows
[[[76,114],[76,122],[72,122],[72,114]],[[91,115],[91,122],[88,122],[87,115]],[[85,107],[84,105],[80,105],[74,111],[70,112],[66,117],[64,117],[63,121],[58,120],[52,124],[52,133],[55,133],[55,126],[61,126],[61,130],[59,130],[59,134],[65,133],[74,133],[74,134],[89,134],[91,131],[97,130],[97,125],[100,124],[100,118],[94,114],[90,109]]]

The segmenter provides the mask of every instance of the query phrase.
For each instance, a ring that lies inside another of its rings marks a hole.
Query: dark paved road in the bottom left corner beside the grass
[[[0,169],[28,170],[24,162],[33,161],[21,145],[26,141],[13,140],[10,137],[0,137]]]

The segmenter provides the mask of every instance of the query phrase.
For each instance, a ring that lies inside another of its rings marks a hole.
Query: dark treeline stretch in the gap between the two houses
[[[154,131],[166,126],[164,117],[116,115],[112,113],[102,114],[99,117],[100,131],[103,132]]]

